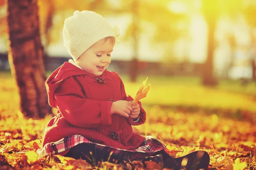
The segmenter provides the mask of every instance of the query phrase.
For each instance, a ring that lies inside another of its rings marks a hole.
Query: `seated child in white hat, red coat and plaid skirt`
[[[93,11],[75,11],[64,22],[63,39],[73,60],[47,79],[49,105],[57,108],[57,115],[45,128],[39,155],[59,154],[89,162],[93,158],[117,162],[160,158],[165,167],[174,169],[180,169],[186,158],[187,169],[207,168],[209,155],[204,151],[173,159],[160,141],[133,132],[131,125],[145,122],[145,110],[140,102],[133,106],[122,79],[107,71],[119,39],[117,27],[113,29]]]

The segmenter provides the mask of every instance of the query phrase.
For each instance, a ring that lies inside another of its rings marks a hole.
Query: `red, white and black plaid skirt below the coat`
[[[125,150],[125,149],[119,149],[119,148],[115,148],[115,147],[111,147],[103,144],[94,143],[80,135],[72,135],[72,136],[68,136],[63,139],[60,139],[57,142],[45,144],[43,148],[40,148],[37,150],[37,153],[41,157],[50,156],[53,154],[58,154],[58,153],[67,151],[70,148],[81,143],[88,143],[88,145],[94,144],[97,150],[101,150],[101,151],[104,151],[105,153],[109,153],[118,157],[125,158],[129,156],[129,159],[131,161],[142,159],[145,156],[151,156],[155,152],[163,150],[166,147],[162,142],[160,142],[153,136],[146,136],[144,142],[140,144],[140,146],[137,147],[136,149]]]

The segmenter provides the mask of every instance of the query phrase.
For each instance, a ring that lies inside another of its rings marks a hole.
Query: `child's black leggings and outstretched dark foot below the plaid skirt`
[[[187,159],[186,163],[186,169],[189,170],[198,170],[198,169],[204,169],[207,168],[209,165],[209,154],[205,151],[196,151],[189,153],[186,156],[182,156],[179,158],[172,158],[168,153],[166,153],[164,150],[157,151],[155,152],[151,157],[146,157],[143,160],[140,161],[146,161],[146,160],[152,160],[156,161],[158,163],[161,162],[160,157],[156,155],[162,155],[162,163],[163,167],[167,167],[169,169],[174,169],[174,170],[180,170],[183,167],[181,167],[181,162],[183,161],[184,158]],[[120,163],[123,160],[125,160],[125,156],[116,156],[116,155],[111,155],[110,153],[96,149],[94,144],[87,144],[87,143],[81,143],[76,145],[75,147],[72,147],[70,151],[65,155],[67,157],[72,157],[75,159],[84,159],[90,164],[97,164],[98,161],[109,161],[112,163]]]

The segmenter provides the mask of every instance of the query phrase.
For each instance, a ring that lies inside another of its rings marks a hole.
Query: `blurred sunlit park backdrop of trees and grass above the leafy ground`
[[[63,46],[64,19],[92,10],[119,26],[122,40],[108,70],[122,76],[128,94],[149,77],[145,104],[256,111],[255,0],[38,0],[38,6],[48,75],[71,58]],[[10,70],[6,18],[0,0],[1,74]]]

